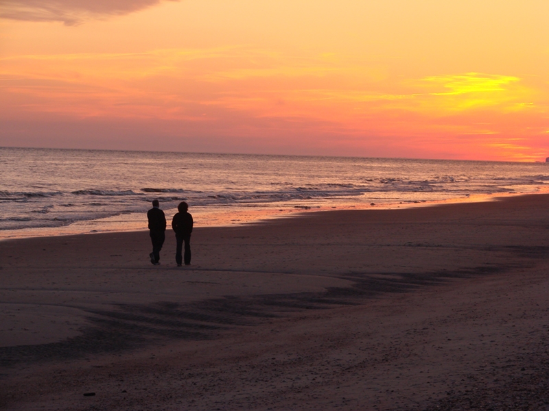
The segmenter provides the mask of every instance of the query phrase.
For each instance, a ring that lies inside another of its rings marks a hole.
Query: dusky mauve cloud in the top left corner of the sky
[[[0,18],[78,25],[93,18],[137,12],[162,1],[179,0],[3,0],[0,3]]]

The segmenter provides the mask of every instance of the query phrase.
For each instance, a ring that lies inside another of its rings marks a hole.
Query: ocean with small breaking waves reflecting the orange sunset
[[[0,174],[5,239],[146,229],[153,199],[196,226],[480,201],[545,192],[549,164],[0,148]]]

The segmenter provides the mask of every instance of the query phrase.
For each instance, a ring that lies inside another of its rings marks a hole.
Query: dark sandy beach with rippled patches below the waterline
[[[1,241],[0,408],[549,410],[548,205]]]

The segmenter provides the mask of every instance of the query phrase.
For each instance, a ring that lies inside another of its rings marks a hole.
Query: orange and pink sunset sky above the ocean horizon
[[[0,146],[544,161],[547,0],[2,0]]]

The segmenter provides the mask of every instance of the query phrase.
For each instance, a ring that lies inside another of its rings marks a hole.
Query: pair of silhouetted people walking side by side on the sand
[[[191,264],[191,232],[193,232],[193,216],[189,214],[189,204],[182,201],[177,206],[179,211],[172,219],[172,229],[176,233],[176,263],[180,267],[182,262],[185,265]],[[158,200],[152,201],[152,208],[147,212],[149,220],[150,239],[152,241],[152,253],[149,254],[150,262],[154,265],[160,264],[160,251],[164,245],[166,231],[166,217],[160,209]],[[183,243],[185,243],[185,254],[182,255]]]

